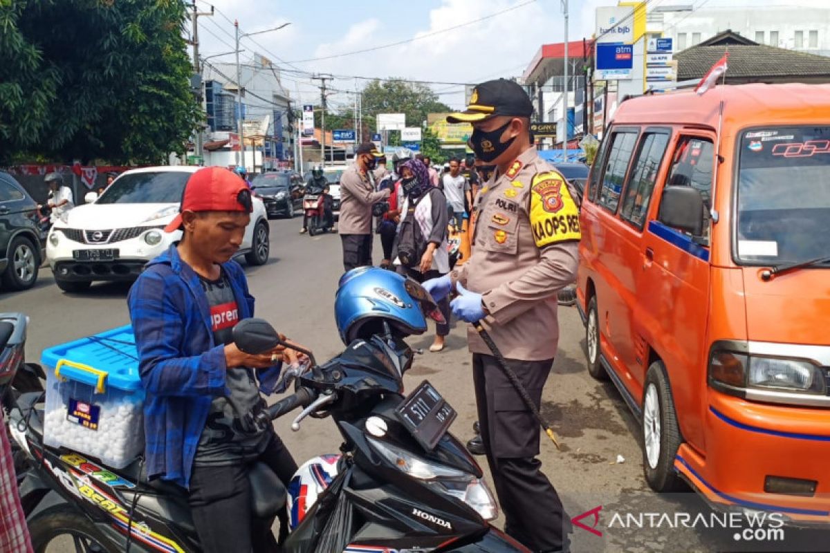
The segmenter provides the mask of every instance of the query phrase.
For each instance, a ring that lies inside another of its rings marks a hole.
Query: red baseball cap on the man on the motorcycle
[[[224,167],[205,167],[194,172],[184,185],[182,203],[178,215],[165,232],[174,232],[182,226],[182,211],[245,211],[251,212],[251,205],[240,201],[240,192],[251,193],[241,177]]]

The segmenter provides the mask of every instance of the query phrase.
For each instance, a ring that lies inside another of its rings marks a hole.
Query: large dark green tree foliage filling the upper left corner
[[[181,0],[0,0],[0,158],[159,163],[198,123]]]

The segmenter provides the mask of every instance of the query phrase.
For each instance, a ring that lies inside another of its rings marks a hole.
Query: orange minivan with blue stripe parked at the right
[[[624,101],[581,226],[588,371],[649,485],[830,523],[830,85]]]

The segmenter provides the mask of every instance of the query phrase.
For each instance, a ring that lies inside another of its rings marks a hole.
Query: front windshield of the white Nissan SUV
[[[183,171],[134,172],[118,177],[96,204],[176,203],[182,201],[184,184],[193,173]]]

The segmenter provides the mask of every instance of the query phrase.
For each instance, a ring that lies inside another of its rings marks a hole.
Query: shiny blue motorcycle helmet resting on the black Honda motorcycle
[[[383,332],[383,323],[401,337],[422,334],[427,317],[443,320],[427,290],[413,279],[379,267],[359,267],[340,278],[334,318],[346,346]]]

